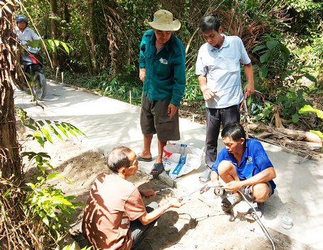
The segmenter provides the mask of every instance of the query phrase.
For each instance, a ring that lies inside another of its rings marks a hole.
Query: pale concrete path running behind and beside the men
[[[60,120],[76,125],[87,137],[79,137],[83,147],[106,154],[113,147],[125,145],[135,152],[142,149],[140,130],[140,108],[111,98],[96,96],[88,91],[74,89],[47,81],[45,109],[32,103],[30,96],[16,91],[16,106],[27,111],[36,119]],[[181,143],[204,147],[205,125],[180,120]],[[219,149],[223,147],[219,140]],[[277,191],[265,205],[262,222],[290,237],[295,249],[306,244],[312,249],[323,249],[323,161],[305,160],[296,154],[284,152],[282,148],[263,143],[263,147],[275,166]],[[152,141],[152,154],[157,155],[157,139]],[[148,174],[152,162],[140,161],[140,171]],[[187,193],[203,186],[198,176],[204,166],[186,176],[177,178],[175,185]],[[173,185],[170,178],[161,178]],[[284,215],[293,219],[293,227],[284,229]],[[293,244],[293,241],[295,243]],[[297,242],[300,244],[297,245]]]

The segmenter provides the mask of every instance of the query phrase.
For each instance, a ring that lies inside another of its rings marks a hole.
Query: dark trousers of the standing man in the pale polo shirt
[[[217,159],[217,138],[220,134],[220,126],[229,123],[240,122],[239,105],[227,108],[206,108],[206,140],[205,140],[205,164],[212,168]]]

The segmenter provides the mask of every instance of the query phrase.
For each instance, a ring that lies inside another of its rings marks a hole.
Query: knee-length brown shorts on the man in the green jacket
[[[149,101],[148,94],[142,94],[142,108],[140,111],[140,126],[143,135],[157,133],[158,140],[167,142],[177,141],[179,135],[179,110],[171,119],[167,113],[170,100]]]

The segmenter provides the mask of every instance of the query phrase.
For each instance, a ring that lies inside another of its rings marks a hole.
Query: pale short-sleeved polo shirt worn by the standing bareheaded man
[[[249,64],[242,40],[226,36],[220,49],[205,42],[198,51],[196,74],[207,78],[207,86],[217,91],[214,98],[205,102],[207,108],[227,108],[242,102],[240,65]]]

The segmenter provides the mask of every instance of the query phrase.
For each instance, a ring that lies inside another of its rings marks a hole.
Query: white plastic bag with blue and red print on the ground
[[[203,150],[186,144],[166,144],[163,150],[163,165],[171,179],[188,174],[200,167]]]

